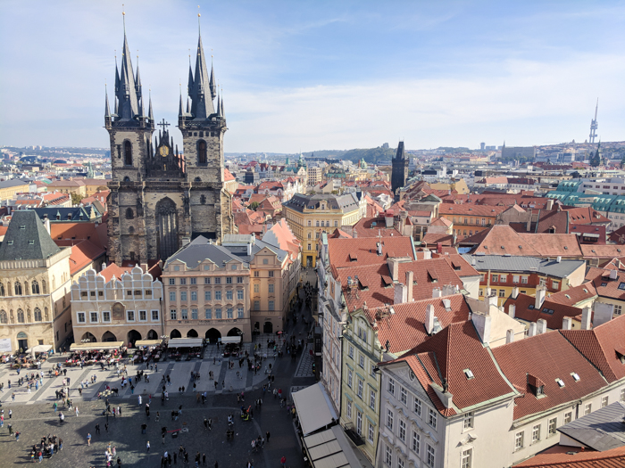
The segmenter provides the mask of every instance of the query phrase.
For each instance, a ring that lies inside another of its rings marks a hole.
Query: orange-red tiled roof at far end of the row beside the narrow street
[[[378,255],[376,237],[329,238],[329,263],[337,268],[362,267],[387,263],[389,256],[409,257],[412,255],[412,239],[405,236],[385,237],[382,240],[382,255]],[[351,256],[351,258],[350,258]]]

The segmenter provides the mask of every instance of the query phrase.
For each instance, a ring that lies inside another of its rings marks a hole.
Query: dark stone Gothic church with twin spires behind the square
[[[232,196],[223,180],[223,135],[228,129],[223,98],[217,95],[212,64],[208,74],[202,37],[197,41],[195,72],[189,63],[186,109],[180,95],[182,152],[173,144],[164,119],[153,142],[152,100],[148,99],[146,112],[125,29],[122,50],[121,70],[115,64],[114,111],[108,94],[104,111],[112,160],[109,259],[118,265],[126,260],[164,262],[198,235],[221,242],[225,234],[236,234]]]

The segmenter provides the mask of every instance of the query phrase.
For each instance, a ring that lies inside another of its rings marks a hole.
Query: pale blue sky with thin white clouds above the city
[[[197,5],[123,6],[144,94],[172,127]],[[625,140],[625,1],[199,5],[225,152],[583,142],[597,98],[602,141]],[[105,0],[0,2],[0,145],[109,145],[104,86],[111,98],[121,12]]]

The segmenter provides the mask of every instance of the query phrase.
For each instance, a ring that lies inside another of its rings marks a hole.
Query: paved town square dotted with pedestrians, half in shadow
[[[310,317],[310,310],[305,310]],[[288,336],[296,336],[296,339],[305,338],[304,324],[298,320],[296,327],[293,325],[287,330]],[[260,335],[254,338],[254,342],[246,343],[244,348],[254,354],[254,344],[262,343],[262,353],[266,351],[269,335]],[[271,335],[275,339],[275,335]],[[296,360],[285,354],[283,357],[273,357],[271,352],[262,362],[262,370],[254,375],[248,372],[247,365],[238,366],[238,359],[233,369],[228,368],[229,358],[221,358],[221,353],[215,345],[206,348],[203,359],[195,359],[186,362],[164,361],[158,363],[157,370],[146,370],[146,365],[131,365],[126,359],[128,375],[133,377],[137,370],[143,370],[149,376],[149,382],[138,382],[134,394],[127,386],[121,389],[121,376],[115,372],[112,366],[108,370],[102,370],[99,366],[89,365],[84,369],[80,367],[67,367],[66,377],[70,378],[71,395],[74,406],[79,408],[79,416],[74,410],[63,407],[62,400],[55,399],[55,390],[63,389],[63,376],[48,378],[47,370],[58,362],[64,362],[63,356],[51,357],[43,366],[46,377],[43,385],[38,390],[30,393],[24,386],[19,387],[18,375],[15,370],[7,365],[0,367],[0,382],[4,382],[4,393],[0,393],[0,400],[4,409],[4,427],[0,428],[0,467],[14,466],[17,464],[31,463],[29,458],[30,448],[40,442],[43,436],[56,435],[63,439],[63,451],[51,458],[44,458],[42,464],[52,467],[82,468],[104,467],[106,465],[104,451],[110,442],[116,447],[117,456],[120,456],[122,466],[135,467],[158,467],[161,464],[161,456],[165,450],[178,453],[180,445],[187,449],[190,464],[195,464],[196,452],[205,454],[206,464],[213,467],[215,462],[223,467],[244,467],[251,461],[254,468],[279,467],[282,456],[287,458],[287,466],[304,467],[304,458],[301,447],[296,438],[293,420],[288,414],[287,407],[279,405],[279,399],[273,398],[271,390],[281,388],[285,395],[291,388],[302,388],[314,383],[312,376],[312,359],[307,351],[304,351]],[[262,387],[268,383],[268,375],[271,364],[271,374],[275,375],[275,383],[271,390],[263,393]],[[66,367],[63,366],[63,369]],[[212,371],[218,382],[215,388],[214,381],[209,379],[209,371]],[[28,374],[36,372],[29,370]],[[191,372],[200,373],[201,379],[196,382],[196,390],[206,391],[207,400],[204,404],[197,402],[193,391]],[[237,377],[237,372],[239,373]],[[26,370],[21,371],[25,376]],[[91,382],[96,375],[96,383],[82,388],[79,394],[80,382]],[[169,400],[162,406],[162,376],[169,375],[171,385],[167,386]],[[8,388],[11,380],[12,387]],[[122,417],[109,416],[108,433],[104,429],[106,423],[102,415],[104,400],[97,398],[98,391],[104,390],[106,385],[120,389],[118,397],[109,398],[112,406],[121,406]],[[185,387],[185,391],[179,394],[179,387]],[[232,390],[230,390],[232,389]],[[254,419],[248,422],[240,418],[240,406],[237,403],[237,393],[245,392],[245,405],[252,406]],[[14,401],[12,395],[15,395]],[[142,406],[138,405],[138,396],[142,398]],[[152,395],[150,406],[150,418],[145,412],[145,404],[148,395]],[[254,401],[262,398],[261,408],[254,407]],[[59,411],[63,411],[65,422],[59,423],[58,413],[54,413],[53,404],[57,401]],[[182,406],[182,415],[178,421],[171,420],[171,410]],[[8,418],[8,411],[12,409],[12,418]],[[156,413],[160,413],[159,421],[156,421]],[[234,439],[226,439],[228,427],[228,415],[234,415]],[[212,419],[212,431],[204,430],[204,418]],[[9,435],[8,424],[12,424],[12,431],[21,431],[19,441]],[[100,425],[100,434],[96,434],[96,423]],[[146,434],[141,433],[141,425],[146,423]],[[166,427],[168,435],[165,444],[162,444],[161,431]],[[178,431],[178,437],[173,437],[173,431]],[[267,431],[271,432],[271,438],[265,446],[252,452],[251,441],[259,435],[265,437]],[[87,446],[87,433],[91,433],[91,446]],[[149,440],[151,448],[146,451],[146,443]],[[182,465],[179,459],[178,463]]]

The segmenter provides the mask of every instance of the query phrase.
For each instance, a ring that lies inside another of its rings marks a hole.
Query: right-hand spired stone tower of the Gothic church
[[[225,188],[223,175],[223,136],[228,127],[212,61],[208,73],[201,35],[197,39],[195,72],[189,62],[186,111],[180,95],[178,127],[184,142],[193,237],[203,235],[221,242],[225,234],[237,233],[232,195]]]

